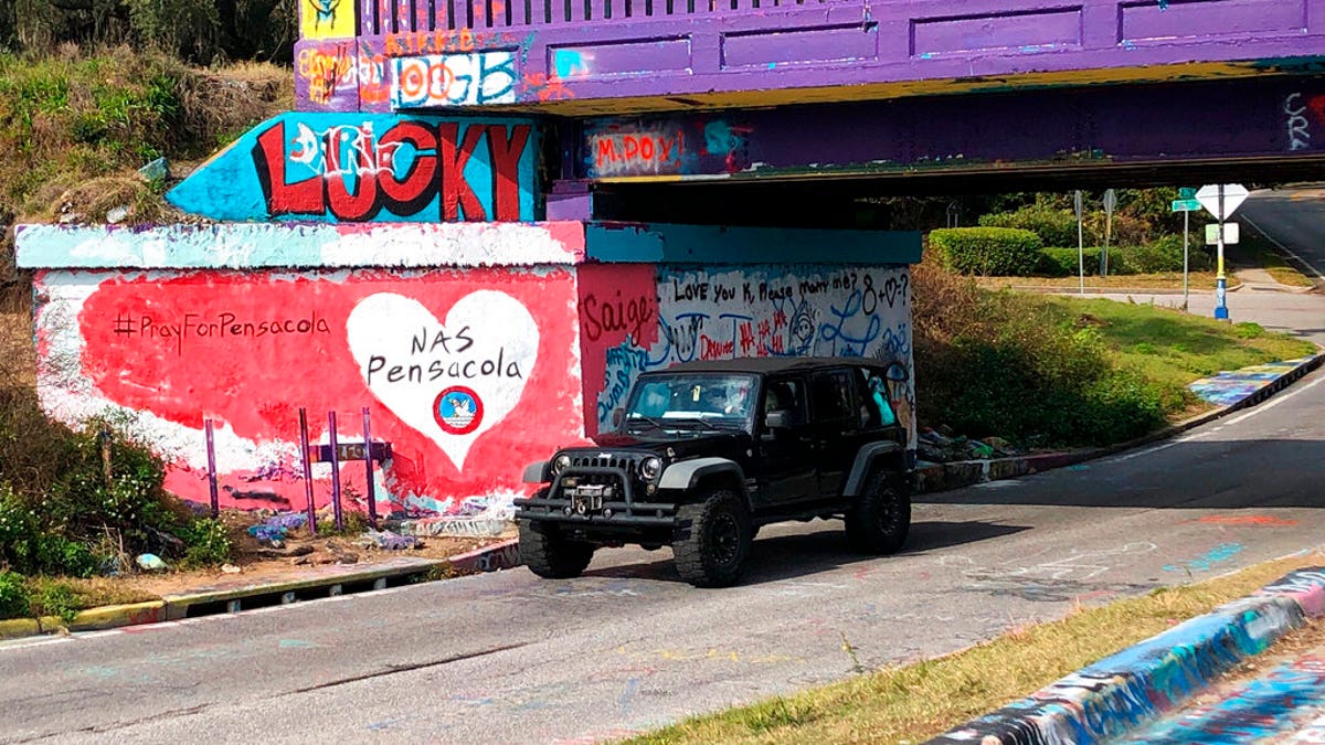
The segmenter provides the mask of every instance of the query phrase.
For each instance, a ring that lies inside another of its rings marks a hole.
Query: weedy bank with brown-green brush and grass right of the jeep
[[[1173,309],[980,289],[914,268],[917,418],[1023,447],[1108,445],[1206,406],[1187,383],[1313,345]]]

